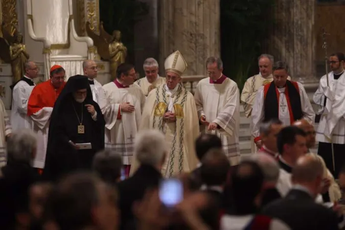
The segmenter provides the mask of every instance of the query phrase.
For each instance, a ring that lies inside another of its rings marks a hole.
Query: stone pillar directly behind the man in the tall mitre
[[[184,75],[204,75],[209,56],[220,56],[219,0],[161,0],[159,3],[159,64],[176,50],[185,57]]]

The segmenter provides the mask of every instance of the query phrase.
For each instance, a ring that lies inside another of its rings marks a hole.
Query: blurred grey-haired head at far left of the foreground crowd
[[[11,134],[7,142],[7,157],[15,162],[30,163],[37,148],[37,135],[30,129]]]

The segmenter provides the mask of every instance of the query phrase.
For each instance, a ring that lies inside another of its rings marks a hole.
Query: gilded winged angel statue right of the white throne
[[[86,32],[89,37],[94,40],[97,47],[97,53],[103,60],[109,61],[111,79],[116,79],[116,71],[118,66],[125,62],[127,56],[127,48],[121,42],[121,32],[115,30],[109,35],[103,28],[101,22],[100,35],[91,30],[90,22],[86,22]]]

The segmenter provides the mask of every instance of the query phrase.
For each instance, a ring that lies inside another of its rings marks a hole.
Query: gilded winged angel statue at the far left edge
[[[22,35],[15,29],[14,34],[2,25],[3,37],[0,37],[0,56],[6,63],[11,63],[14,82],[19,81],[25,74],[24,64],[29,59]]]

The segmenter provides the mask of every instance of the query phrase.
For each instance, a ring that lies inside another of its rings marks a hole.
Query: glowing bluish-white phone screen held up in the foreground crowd
[[[181,202],[183,199],[182,182],[174,178],[163,180],[159,185],[159,199],[168,208]]]

